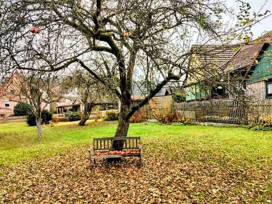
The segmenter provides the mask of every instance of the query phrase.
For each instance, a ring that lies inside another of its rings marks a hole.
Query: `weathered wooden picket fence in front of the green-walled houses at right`
[[[260,124],[265,117],[272,116],[272,100],[254,103],[238,103],[229,99],[184,102],[176,103],[175,111],[197,122]]]

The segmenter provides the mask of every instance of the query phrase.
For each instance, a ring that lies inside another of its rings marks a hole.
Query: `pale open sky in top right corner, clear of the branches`
[[[266,10],[271,11],[272,14],[272,0],[244,0],[244,2],[248,2],[251,6],[251,12],[258,12],[261,7],[264,5],[264,7],[261,10],[261,13],[264,13]],[[233,9],[236,9],[236,0],[226,0],[226,4],[229,7],[232,7]],[[252,28],[253,38],[257,38],[262,33],[265,33],[267,31],[272,31],[272,15],[261,21],[259,24],[255,25],[254,28]]]

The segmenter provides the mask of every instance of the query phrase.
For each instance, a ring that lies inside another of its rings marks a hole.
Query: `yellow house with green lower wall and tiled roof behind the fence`
[[[183,86],[186,102],[227,97],[224,87],[207,85],[206,80],[212,77],[215,71],[223,72],[235,51],[217,45],[193,45],[191,51],[194,52],[190,59],[193,75],[188,75]]]

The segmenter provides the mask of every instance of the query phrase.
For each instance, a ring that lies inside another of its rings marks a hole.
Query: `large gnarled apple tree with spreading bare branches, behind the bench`
[[[126,136],[135,111],[169,81],[196,72],[188,66],[191,43],[231,49],[230,42],[249,37],[249,28],[264,16],[250,17],[249,4],[237,4],[234,14],[221,0],[6,0],[0,15],[1,71],[52,72],[79,64],[119,98],[115,136]],[[235,25],[223,21],[227,15],[237,16]],[[43,66],[26,66],[36,60]],[[135,78],[149,91],[132,105]]]

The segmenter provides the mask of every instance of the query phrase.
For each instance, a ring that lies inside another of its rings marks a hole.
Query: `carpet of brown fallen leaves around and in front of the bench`
[[[182,146],[159,141],[156,145],[145,143],[149,145],[144,145],[141,168],[137,167],[137,159],[129,158],[112,164],[100,160],[97,167],[90,170],[87,146],[47,160],[5,167],[0,170],[0,200],[14,203],[269,203],[272,199],[270,191],[265,191],[272,185],[271,168],[267,165],[226,163],[224,153],[212,155],[218,158],[211,161],[208,153],[201,154],[199,159],[188,159],[188,152],[182,150]]]

